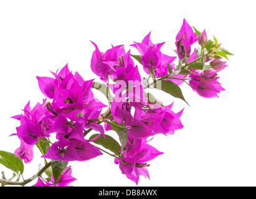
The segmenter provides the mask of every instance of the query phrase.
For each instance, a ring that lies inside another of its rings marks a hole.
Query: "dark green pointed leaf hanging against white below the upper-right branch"
[[[175,98],[183,99],[183,101],[187,103],[187,101],[184,99],[181,88],[179,88],[179,86],[176,85],[176,83],[174,83],[173,81],[169,81],[169,80],[156,81],[156,89],[169,93]]]

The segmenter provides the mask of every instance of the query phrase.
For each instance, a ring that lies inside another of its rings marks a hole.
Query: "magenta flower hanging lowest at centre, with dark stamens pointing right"
[[[146,139],[137,139],[128,136],[128,142],[121,159],[115,159],[115,164],[119,164],[122,174],[133,180],[136,185],[140,179],[140,175],[149,178],[148,161],[154,159],[158,155],[163,154],[152,146],[146,144]]]

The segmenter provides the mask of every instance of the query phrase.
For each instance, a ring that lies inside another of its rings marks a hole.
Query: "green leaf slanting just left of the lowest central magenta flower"
[[[97,137],[99,134],[93,134],[90,139],[93,139],[94,137]],[[99,144],[103,147],[105,147],[106,149],[111,150],[111,152],[115,153],[116,155],[119,154],[119,151],[121,150],[121,146],[120,144],[113,139],[113,137],[108,136],[107,134],[105,134],[106,139],[101,135],[100,137],[98,137],[97,139],[95,139],[95,141],[93,141],[95,144]]]

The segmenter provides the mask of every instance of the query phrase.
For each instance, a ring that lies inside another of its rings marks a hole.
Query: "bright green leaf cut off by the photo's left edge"
[[[17,174],[18,172],[21,172],[21,174],[24,172],[24,164],[16,154],[0,150],[0,156],[0,163],[2,165],[13,170]]]

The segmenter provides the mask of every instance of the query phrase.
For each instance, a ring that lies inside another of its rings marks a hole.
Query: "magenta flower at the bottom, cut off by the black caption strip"
[[[60,175],[60,178],[57,183],[54,184],[54,176],[49,180],[41,180],[40,177],[37,179],[36,187],[70,187],[69,184],[75,180],[76,178],[72,177],[71,166],[66,167]]]

